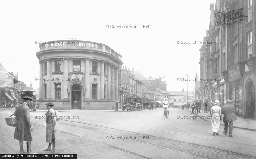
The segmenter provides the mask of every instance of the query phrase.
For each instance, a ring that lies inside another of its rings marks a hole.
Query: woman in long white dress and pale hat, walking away
[[[220,121],[222,120],[221,108],[218,105],[220,105],[220,101],[215,100],[214,106],[211,107],[211,125],[213,136],[215,134],[219,135]]]

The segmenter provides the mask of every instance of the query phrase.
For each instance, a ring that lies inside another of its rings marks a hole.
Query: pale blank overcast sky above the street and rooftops
[[[187,91],[177,81],[199,77],[199,49],[209,28],[214,0],[182,1],[2,1],[0,63],[37,89],[39,60],[35,41],[77,40],[103,43],[121,54],[123,66],[145,77],[165,75],[167,91]],[[107,28],[150,25],[150,28]],[[29,80],[29,81],[28,81]],[[195,82],[189,82],[193,91]]]

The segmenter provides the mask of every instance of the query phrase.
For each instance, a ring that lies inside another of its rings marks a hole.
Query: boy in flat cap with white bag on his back
[[[52,102],[48,102],[45,104],[48,112],[46,115],[46,142],[49,143],[48,148],[44,151],[50,151],[49,153],[55,152],[55,125],[56,125],[56,113],[55,110],[52,109],[54,104]],[[52,146],[52,149],[51,149]]]

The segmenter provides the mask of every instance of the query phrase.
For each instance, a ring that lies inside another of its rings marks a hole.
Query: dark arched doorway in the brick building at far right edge
[[[254,105],[254,91],[253,81],[249,81],[246,85],[246,117],[254,119],[255,105]]]

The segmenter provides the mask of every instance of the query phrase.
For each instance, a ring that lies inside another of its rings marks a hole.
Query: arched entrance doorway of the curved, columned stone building
[[[79,85],[75,85],[71,89],[71,109],[81,109],[82,89]]]

